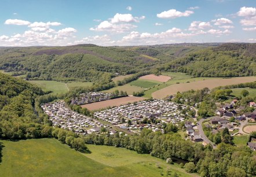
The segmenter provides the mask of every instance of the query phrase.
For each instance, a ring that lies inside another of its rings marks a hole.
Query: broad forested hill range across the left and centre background
[[[28,80],[110,82],[120,75],[151,71],[174,58],[207,47],[160,45],[140,47],[2,47],[0,69]]]

